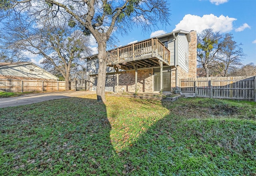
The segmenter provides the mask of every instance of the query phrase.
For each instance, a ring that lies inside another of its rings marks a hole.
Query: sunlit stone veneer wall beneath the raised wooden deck
[[[149,76],[151,74],[151,76]],[[138,70],[138,92],[153,92],[153,69]],[[116,90],[117,86],[115,86]],[[123,89],[123,90],[122,90]],[[119,74],[118,92],[135,92],[135,70]]]

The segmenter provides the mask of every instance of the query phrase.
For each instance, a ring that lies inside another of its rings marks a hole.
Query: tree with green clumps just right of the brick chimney
[[[214,32],[213,29],[204,29],[197,36],[197,61],[209,77],[209,65],[216,59],[222,46],[222,35],[220,32]]]

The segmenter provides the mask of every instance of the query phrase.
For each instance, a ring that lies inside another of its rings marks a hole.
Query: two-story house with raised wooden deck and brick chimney
[[[173,31],[108,51],[106,91],[159,92],[196,78],[196,31]],[[98,58],[87,59],[90,90],[96,90]]]

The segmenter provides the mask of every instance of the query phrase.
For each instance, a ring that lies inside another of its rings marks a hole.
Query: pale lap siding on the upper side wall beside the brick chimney
[[[179,33],[178,39],[178,63],[181,68],[188,72],[188,39],[185,34]]]

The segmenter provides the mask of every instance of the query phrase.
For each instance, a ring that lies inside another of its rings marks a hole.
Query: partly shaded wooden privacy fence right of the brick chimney
[[[180,80],[180,89],[195,97],[256,102],[256,76],[185,78]]]

